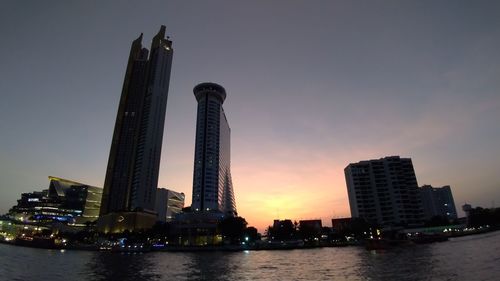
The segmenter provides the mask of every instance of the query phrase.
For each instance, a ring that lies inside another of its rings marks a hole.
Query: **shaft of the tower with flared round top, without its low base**
[[[231,180],[231,129],[222,104],[226,91],[215,83],[202,83],[193,89],[198,101],[196,145],[191,209],[220,211],[236,215]]]

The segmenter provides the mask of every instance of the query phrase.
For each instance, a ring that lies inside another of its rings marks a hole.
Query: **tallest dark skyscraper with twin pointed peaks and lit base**
[[[100,231],[133,231],[156,221],[172,55],[165,26],[150,50],[142,46],[142,34],[132,42],[104,181]]]

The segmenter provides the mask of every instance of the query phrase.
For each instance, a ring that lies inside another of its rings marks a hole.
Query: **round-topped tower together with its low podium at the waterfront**
[[[226,90],[215,83],[194,87],[198,101],[190,208],[175,216],[173,231],[179,245],[222,243],[218,224],[237,216],[231,179],[231,129],[222,104]]]

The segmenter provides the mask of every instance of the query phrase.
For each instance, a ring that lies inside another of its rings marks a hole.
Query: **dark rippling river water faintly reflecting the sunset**
[[[117,254],[0,244],[0,280],[498,280],[500,232],[390,251]]]

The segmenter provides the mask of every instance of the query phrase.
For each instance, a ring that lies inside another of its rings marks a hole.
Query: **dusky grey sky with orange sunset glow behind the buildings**
[[[225,87],[239,215],[350,216],[343,169],[400,155],[500,205],[498,1],[0,1],[0,213],[102,186],[130,44],[173,41],[159,186],[191,204],[193,87]],[[459,210],[459,215],[463,212]]]

